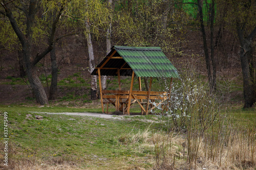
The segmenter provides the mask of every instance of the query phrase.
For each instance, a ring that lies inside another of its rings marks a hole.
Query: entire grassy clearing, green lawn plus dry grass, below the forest
[[[8,112],[9,165],[13,169],[190,168],[187,132],[171,131],[173,124],[168,116],[124,116],[119,120],[30,112],[89,111],[79,108],[1,106],[0,110],[2,123],[3,112]],[[255,159],[249,159],[254,157],[250,154],[256,154],[256,115],[253,113],[253,109],[230,111],[235,118],[226,119],[232,122],[229,124],[232,128],[221,132],[224,136],[219,137],[216,145],[211,144],[216,136],[209,133],[202,138],[196,167],[255,168]],[[38,120],[35,115],[43,119]],[[250,129],[248,122],[252,125]],[[0,131],[3,132],[3,126]],[[226,134],[229,135],[225,137]],[[226,143],[225,138],[232,140]],[[197,142],[196,138],[193,140]],[[4,147],[2,136],[0,147]],[[3,155],[0,161],[4,169]]]

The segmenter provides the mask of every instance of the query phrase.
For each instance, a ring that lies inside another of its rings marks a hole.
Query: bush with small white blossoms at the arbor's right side
[[[219,113],[219,103],[208,87],[195,72],[183,72],[180,79],[174,81],[169,98],[157,108],[172,118],[176,129],[187,128],[192,120],[207,129]],[[165,86],[165,91],[169,91],[169,87]]]

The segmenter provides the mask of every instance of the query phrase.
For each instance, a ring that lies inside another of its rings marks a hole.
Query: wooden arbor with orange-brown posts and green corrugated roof
[[[179,77],[177,69],[163,54],[160,47],[129,47],[113,46],[112,51],[97,65],[91,75],[98,75],[100,100],[102,112],[104,104],[108,113],[109,104],[116,107],[116,111],[123,114],[130,114],[130,107],[138,103],[141,107],[141,114],[148,114],[155,107],[168,98],[169,92],[151,91],[152,78]],[[101,76],[117,76],[119,90],[102,90]],[[138,77],[139,90],[133,90],[135,75]],[[131,76],[130,90],[121,90],[120,76]],[[148,91],[141,91],[141,77],[150,77]],[[155,103],[158,100],[158,103]],[[154,103],[155,106],[152,104]]]

